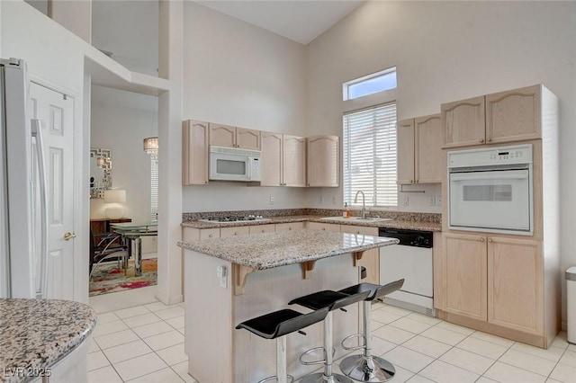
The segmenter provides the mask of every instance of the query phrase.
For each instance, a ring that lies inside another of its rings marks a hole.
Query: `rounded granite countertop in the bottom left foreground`
[[[58,299],[0,299],[0,381],[36,377],[82,343],[96,325],[92,307]]]

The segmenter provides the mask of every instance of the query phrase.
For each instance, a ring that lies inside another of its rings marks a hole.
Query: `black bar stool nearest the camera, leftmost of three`
[[[258,383],[277,380],[278,383],[287,383],[288,379],[293,382],[294,378],[288,375],[286,370],[286,335],[302,328],[320,322],[328,315],[328,308],[302,314],[298,311],[284,308],[264,316],[258,316],[242,322],[236,328],[245,328],[250,333],[257,334],[265,339],[276,339],[276,375],[258,381]],[[304,333],[302,333],[304,334]]]

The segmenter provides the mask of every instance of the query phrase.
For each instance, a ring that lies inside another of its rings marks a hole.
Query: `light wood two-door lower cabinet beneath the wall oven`
[[[444,281],[435,290],[439,316],[548,347],[559,327],[556,313],[545,310],[542,242],[473,234],[442,237],[442,253],[436,260],[441,267],[435,268],[434,276]]]

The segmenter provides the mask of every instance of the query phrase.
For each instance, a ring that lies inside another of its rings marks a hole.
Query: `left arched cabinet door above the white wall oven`
[[[484,96],[442,104],[444,147],[464,147],[485,142]]]

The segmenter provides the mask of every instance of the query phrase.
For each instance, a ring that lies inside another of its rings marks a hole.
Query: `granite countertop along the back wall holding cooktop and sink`
[[[280,216],[270,217],[261,221],[248,221],[248,222],[202,222],[198,220],[184,221],[182,227],[194,228],[218,228],[218,227],[239,227],[239,226],[252,226],[252,225],[269,225],[290,222],[320,222],[332,223],[339,225],[354,225],[365,227],[391,227],[410,230],[424,230],[424,231],[442,231],[441,222],[431,222],[422,220],[408,220],[408,219],[395,219],[380,220],[380,221],[361,221],[357,219],[328,219],[313,215],[298,215],[298,216]]]

